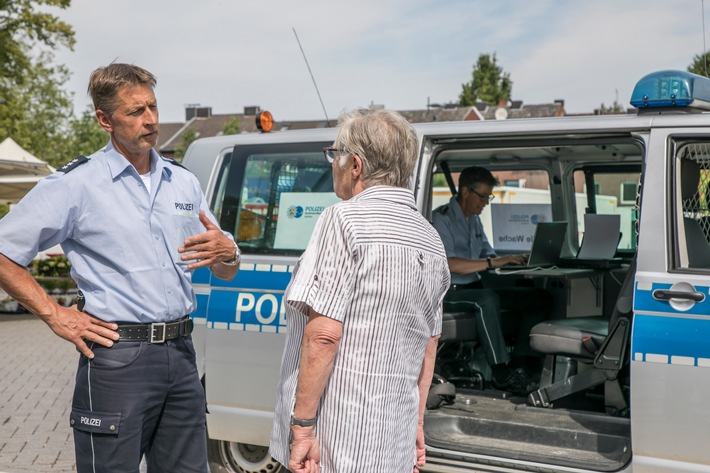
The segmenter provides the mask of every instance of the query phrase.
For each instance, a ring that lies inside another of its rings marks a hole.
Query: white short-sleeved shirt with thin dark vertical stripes
[[[288,335],[271,455],[288,464],[308,307],[343,324],[316,433],[321,472],[411,472],[418,378],[441,333],[449,269],[439,235],[408,189],[375,186],[326,209],[285,298]]]

